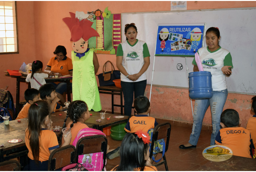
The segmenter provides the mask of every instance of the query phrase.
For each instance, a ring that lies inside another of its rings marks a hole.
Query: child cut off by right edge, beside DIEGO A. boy
[[[253,141],[254,147],[256,147],[256,96],[252,97],[251,111],[254,114],[251,116],[247,122],[246,129],[248,129],[251,133],[251,138]]]

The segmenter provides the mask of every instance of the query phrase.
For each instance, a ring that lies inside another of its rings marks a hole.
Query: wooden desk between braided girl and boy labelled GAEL
[[[127,122],[129,119],[129,116],[123,115],[124,116],[123,118],[114,118],[114,116],[117,116],[117,115],[106,113],[105,119],[101,119],[101,122],[97,122],[96,120],[100,119],[100,112],[90,111],[90,113],[92,114],[92,116],[90,116],[90,118],[85,121],[85,124],[91,124],[93,125],[93,128],[101,131],[105,127]],[[107,120],[107,117],[109,116],[111,116],[110,120]]]

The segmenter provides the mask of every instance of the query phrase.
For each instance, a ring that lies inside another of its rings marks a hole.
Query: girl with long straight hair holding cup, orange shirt
[[[50,107],[46,101],[35,101],[29,107],[29,125],[25,131],[25,143],[29,149],[28,171],[47,171],[52,151],[59,147],[56,134],[52,131]],[[71,133],[64,138],[62,146],[70,143]]]

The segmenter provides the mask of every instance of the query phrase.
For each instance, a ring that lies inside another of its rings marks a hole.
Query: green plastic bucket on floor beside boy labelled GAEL
[[[124,130],[124,127],[126,126],[126,123],[116,124],[114,126],[111,126],[111,135],[110,137],[113,140],[122,140],[124,135],[126,134],[126,131]]]

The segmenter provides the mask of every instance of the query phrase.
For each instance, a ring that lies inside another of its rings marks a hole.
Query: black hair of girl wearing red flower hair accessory
[[[126,133],[120,146],[120,164],[114,171],[134,171],[134,168],[144,171],[148,147],[137,134]]]

